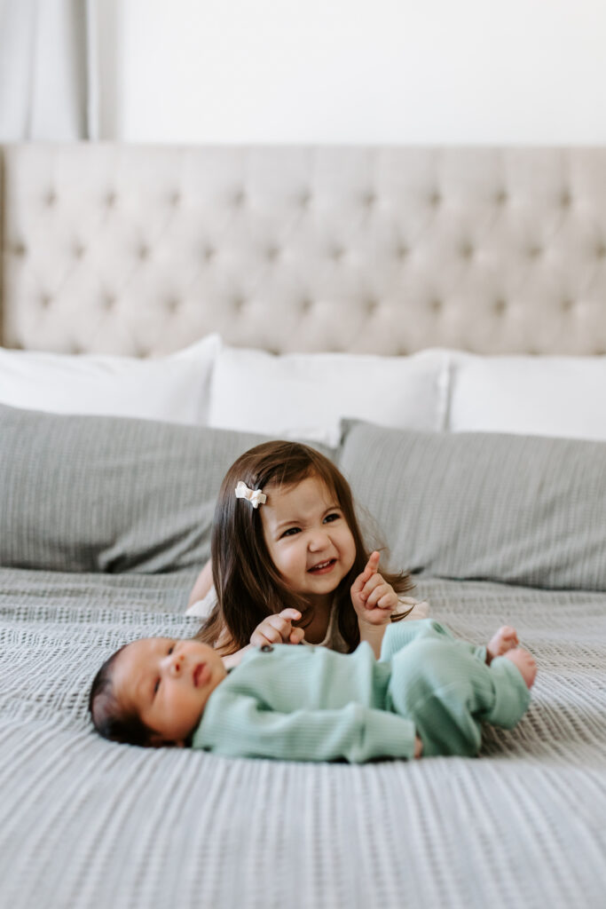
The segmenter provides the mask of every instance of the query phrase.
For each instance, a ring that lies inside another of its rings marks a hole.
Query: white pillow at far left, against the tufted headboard
[[[43,354],[0,348],[0,402],[55,414],[137,416],[205,425],[219,335],[176,354]]]

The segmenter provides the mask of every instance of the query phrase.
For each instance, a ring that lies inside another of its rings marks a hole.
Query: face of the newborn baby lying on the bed
[[[120,704],[155,730],[151,744],[183,745],[225,675],[223,660],[208,644],[146,637],[117,657],[113,686]]]

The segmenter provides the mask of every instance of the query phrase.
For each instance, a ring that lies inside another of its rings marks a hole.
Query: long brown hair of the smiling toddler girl
[[[264,442],[242,454],[225,474],[214,510],[211,555],[213,580],[218,603],[196,634],[205,644],[218,646],[231,654],[250,642],[251,634],[267,615],[293,606],[303,614],[300,623],[311,621],[309,603],[283,582],[267,550],[260,510],[236,499],[236,484],[243,482],[251,489],[268,485],[292,486],[317,476],[326,484],[343,510],[355,544],[355,559],[350,572],[335,592],[339,629],[350,651],[360,643],[357,616],[353,610],[350,588],[361,574],[369,553],[353,507],[352,491],[338,468],[309,445],[296,442]],[[396,593],[410,590],[410,575],[387,574],[383,577]],[[403,617],[403,616],[400,616]],[[225,638],[227,638],[225,640]]]

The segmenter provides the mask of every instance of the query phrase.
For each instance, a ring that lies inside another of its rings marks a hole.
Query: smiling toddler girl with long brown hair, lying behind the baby
[[[211,552],[216,597],[196,638],[222,655],[302,642],[348,653],[361,640],[378,655],[385,614],[428,612],[400,595],[412,587],[408,574],[379,573],[349,484],[308,445],[263,443],[235,461],[219,492]],[[188,612],[200,614],[197,604]]]

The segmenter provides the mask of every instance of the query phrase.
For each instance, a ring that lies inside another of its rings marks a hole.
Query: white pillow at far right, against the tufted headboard
[[[606,357],[452,358],[452,432],[606,439]]]

